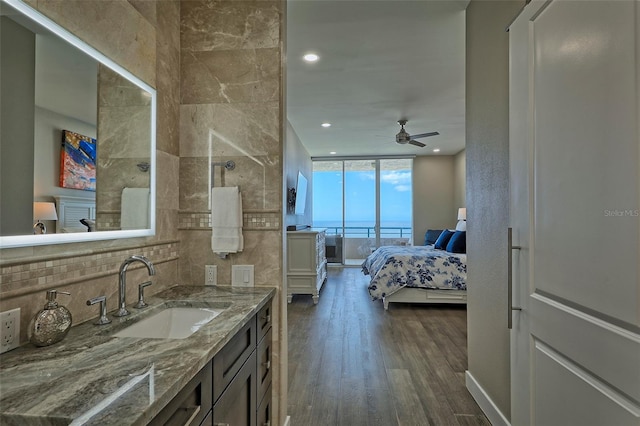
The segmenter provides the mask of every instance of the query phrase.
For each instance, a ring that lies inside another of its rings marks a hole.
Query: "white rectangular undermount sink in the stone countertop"
[[[186,339],[222,313],[223,309],[167,308],[114,334],[115,337]]]

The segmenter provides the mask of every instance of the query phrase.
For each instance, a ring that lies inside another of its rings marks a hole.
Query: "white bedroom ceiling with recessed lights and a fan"
[[[468,0],[287,2],[287,117],[312,157],[456,154],[465,145]],[[314,52],[320,60],[305,63]],[[397,121],[427,146],[398,145]],[[328,121],[330,128],[320,124]]]

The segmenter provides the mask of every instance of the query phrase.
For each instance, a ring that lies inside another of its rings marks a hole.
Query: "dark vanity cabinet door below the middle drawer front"
[[[251,354],[238,374],[213,406],[213,424],[254,426],[256,424],[256,353]]]

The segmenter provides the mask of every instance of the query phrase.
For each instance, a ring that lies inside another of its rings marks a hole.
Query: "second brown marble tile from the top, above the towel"
[[[181,52],[181,102],[269,102],[280,96],[280,55],[273,49]]]

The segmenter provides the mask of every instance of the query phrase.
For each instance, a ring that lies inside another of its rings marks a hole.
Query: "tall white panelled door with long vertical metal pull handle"
[[[513,425],[640,424],[639,4],[510,27]]]

